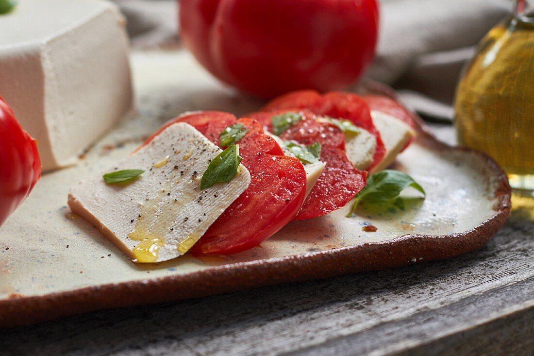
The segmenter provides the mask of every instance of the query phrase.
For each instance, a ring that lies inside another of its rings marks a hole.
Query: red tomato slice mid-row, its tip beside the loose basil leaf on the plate
[[[326,145],[321,147],[320,159],[326,162],[325,169],[294,220],[317,218],[333,212],[347,205],[365,187],[367,172],[354,168],[344,151]]]

